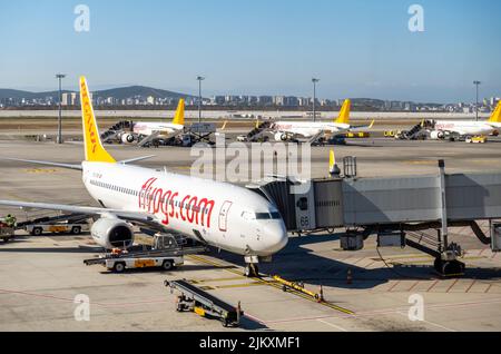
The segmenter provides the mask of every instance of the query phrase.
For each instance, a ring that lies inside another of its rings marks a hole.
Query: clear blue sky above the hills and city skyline
[[[73,9],[90,8],[90,32]],[[407,29],[424,8],[425,31]],[[0,0],[0,87],[146,85],[196,92],[416,101],[501,96],[498,0]]]

